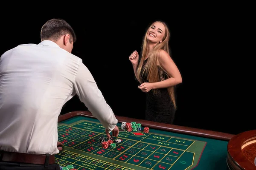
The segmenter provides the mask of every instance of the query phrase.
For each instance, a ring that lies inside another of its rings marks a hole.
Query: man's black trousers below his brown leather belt
[[[60,167],[58,164],[49,164],[48,167],[45,167],[41,164],[0,161],[0,170],[60,170]]]

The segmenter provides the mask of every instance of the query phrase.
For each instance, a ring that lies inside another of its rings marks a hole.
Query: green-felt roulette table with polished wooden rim
[[[102,148],[105,127],[89,111],[58,117],[58,141],[63,150],[55,155],[61,166],[78,170],[229,170],[227,144],[233,134],[168,125],[116,116],[121,139],[114,148]],[[136,122],[141,130],[128,132],[122,122]],[[149,132],[143,132],[149,127]]]

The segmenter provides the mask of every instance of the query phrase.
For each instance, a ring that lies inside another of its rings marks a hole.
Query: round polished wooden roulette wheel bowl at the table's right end
[[[232,170],[256,170],[256,130],[239,133],[227,145],[228,164]]]

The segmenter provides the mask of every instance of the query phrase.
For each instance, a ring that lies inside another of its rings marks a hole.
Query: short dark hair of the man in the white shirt
[[[61,19],[52,19],[47,21],[41,29],[41,41],[53,40],[57,41],[61,36],[70,34],[70,43],[76,42],[76,34],[73,28]]]

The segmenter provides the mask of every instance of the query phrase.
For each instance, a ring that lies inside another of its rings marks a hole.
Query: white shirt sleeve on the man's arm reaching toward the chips
[[[82,62],[79,65],[74,86],[81,102],[106,129],[112,131],[117,124],[117,119],[106,103],[92,74]]]

